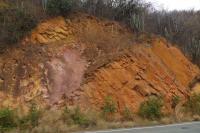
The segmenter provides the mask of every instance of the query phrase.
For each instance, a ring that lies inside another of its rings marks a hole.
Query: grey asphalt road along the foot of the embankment
[[[200,122],[84,133],[200,133]]]

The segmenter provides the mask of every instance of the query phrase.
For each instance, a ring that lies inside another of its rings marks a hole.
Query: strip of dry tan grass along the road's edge
[[[74,108],[70,109],[72,112]],[[81,112],[90,124],[83,127],[82,125],[72,123],[69,124],[66,121],[63,121],[63,110],[46,110],[43,112],[42,117],[39,120],[39,125],[32,129],[19,130],[15,129],[9,133],[69,133],[69,132],[78,132],[78,131],[97,131],[97,130],[106,130],[106,129],[117,129],[117,128],[132,128],[138,126],[155,126],[160,124],[172,124],[177,123],[174,116],[164,116],[160,120],[148,120],[134,115],[132,121],[115,119],[113,121],[107,121],[102,117],[101,113],[98,113],[93,110],[87,110]],[[68,117],[67,117],[68,118]],[[68,118],[71,120],[71,118]],[[181,121],[197,121],[200,120],[200,116],[185,114]],[[92,124],[91,124],[92,123]]]

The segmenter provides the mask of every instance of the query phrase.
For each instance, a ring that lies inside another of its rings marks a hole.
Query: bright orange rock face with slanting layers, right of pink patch
[[[149,48],[135,46],[97,70],[94,79],[83,85],[89,103],[101,108],[105,97],[112,96],[119,111],[125,107],[137,111],[149,96],[161,96],[170,111],[173,96],[186,99],[188,84],[199,70],[165,43],[158,39]]]

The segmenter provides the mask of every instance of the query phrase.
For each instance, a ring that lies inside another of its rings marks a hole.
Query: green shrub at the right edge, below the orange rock
[[[186,110],[196,115],[200,115],[200,94],[193,94],[186,103]]]

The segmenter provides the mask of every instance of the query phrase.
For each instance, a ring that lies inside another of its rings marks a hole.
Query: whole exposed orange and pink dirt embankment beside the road
[[[200,71],[164,39],[137,39],[126,27],[87,14],[47,20],[0,55],[0,105],[99,109],[112,96],[118,111],[137,111],[149,96],[160,96],[171,111],[173,96],[186,99]]]

